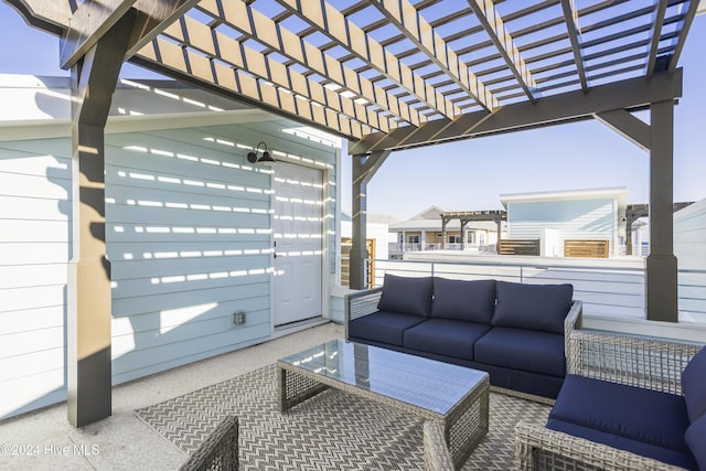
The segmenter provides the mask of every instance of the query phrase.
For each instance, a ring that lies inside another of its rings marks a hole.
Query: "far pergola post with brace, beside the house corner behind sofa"
[[[367,261],[367,202],[366,189],[379,165],[383,164],[391,151],[374,152],[371,156],[353,156],[353,220],[350,265],[350,287],[352,289],[365,289],[365,267]]]

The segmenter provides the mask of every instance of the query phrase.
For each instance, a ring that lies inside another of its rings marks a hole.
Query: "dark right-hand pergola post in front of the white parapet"
[[[674,256],[674,101],[653,103],[650,149],[650,255],[645,265],[648,320],[678,321]]]

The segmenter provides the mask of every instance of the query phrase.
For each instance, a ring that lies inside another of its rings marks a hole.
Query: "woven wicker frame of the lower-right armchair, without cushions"
[[[682,394],[681,374],[703,345],[663,339],[575,330],[568,373]],[[661,461],[582,438],[518,424],[515,463],[520,470],[675,470]]]

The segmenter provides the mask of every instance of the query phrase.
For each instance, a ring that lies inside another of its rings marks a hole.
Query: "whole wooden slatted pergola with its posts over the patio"
[[[366,185],[392,151],[598,119],[649,153],[646,318],[677,320],[673,118],[696,0],[6,2],[61,36],[72,71],[74,425],[110,415],[104,127],[125,61],[346,138],[353,288],[364,286]]]

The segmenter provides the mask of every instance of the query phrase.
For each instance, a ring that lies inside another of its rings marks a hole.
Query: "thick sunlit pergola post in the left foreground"
[[[110,263],[106,256],[105,126],[133,14],[72,66],[72,259],[67,411],[76,427],[111,414]]]

